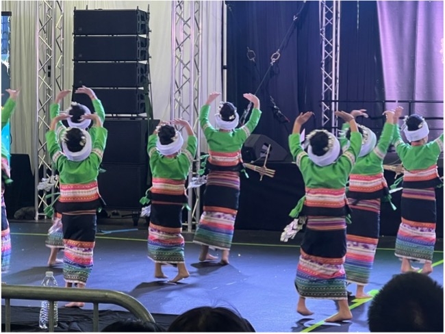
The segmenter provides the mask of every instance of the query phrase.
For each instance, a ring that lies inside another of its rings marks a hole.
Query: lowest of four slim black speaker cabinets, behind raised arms
[[[73,87],[73,92],[76,91]],[[101,100],[105,114],[138,115],[145,110],[144,90],[140,88],[98,88],[94,89],[97,99]],[[92,102],[86,94],[73,93],[72,101],[86,105],[92,109]]]

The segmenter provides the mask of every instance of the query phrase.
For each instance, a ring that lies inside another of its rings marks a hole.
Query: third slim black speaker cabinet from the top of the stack
[[[137,88],[147,83],[147,64],[140,62],[74,62],[75,87]]]

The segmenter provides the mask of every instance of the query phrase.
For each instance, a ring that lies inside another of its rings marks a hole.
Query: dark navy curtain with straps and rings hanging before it
[[[242,114],[244,92],[254,93],[270,67],[270,56],[280,47],[281,57],[266,76],[258,97],[263,115],[255,133],[261,133],[288,149],[288,135],[300,111],[320,114],[320,32],[318,2],[226,1],[227,3],[227,99]],[[294,16],[300,12],[292,25]],[[288,34],[287,34],[288,33]],[[247,57],[248,48],[255,61]],[[290,123],[274,116],[270,96]],[[320,117],[309,124],[314,128]]]

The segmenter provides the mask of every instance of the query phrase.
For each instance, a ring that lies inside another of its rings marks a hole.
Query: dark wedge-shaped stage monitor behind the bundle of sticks
[[[283,147],[264,135],[251,135],[241,149],[241,155],[244,162],[254,162],[266,157],[266,151],[270,145],[270,153],[268,161],[270,162],[284,162],[289,161],[290,154]]]

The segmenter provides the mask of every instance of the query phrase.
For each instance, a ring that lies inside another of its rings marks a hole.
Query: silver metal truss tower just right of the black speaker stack
[[[196,159],[188,176],[198,177],[201,168],[199,103],[201,81],[201,1],[172,1],[172,63],[170,117],[183,118],[192,125],[198,138]],[[188,190],[188,231],[199,222],[200,188]]]

